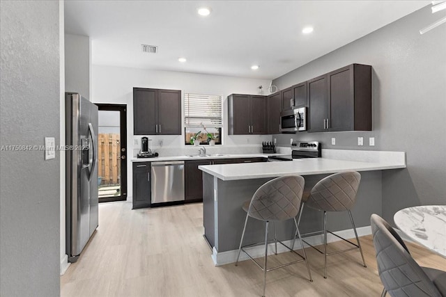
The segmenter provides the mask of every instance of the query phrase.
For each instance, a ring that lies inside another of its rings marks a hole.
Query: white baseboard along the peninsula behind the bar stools
[[[370,226],[359,227],[359,228],[356,228],[356,232],[357,232],[357,236],[370,235],[371,227]],[[355,238],[355,232],[353,232],[353,229],[341,230],[341,231],[337,231],[337,232],[333,232],[333,233],[337,234],[339,236],[342,236],[345,239]],[[327,236],[328,243],[335,242],[335,241],[341,241],[341,240],[342,239],[339,239],[339,237],[334,236],[330,233]],[[320,235],[308,236],[308,237],[305,237],[305,241],[312,244],[313,246],[318,246],[323,243],[323,235],[320,234]],[[282,242],[286,246],[290,246],[290,247],[293,244],[293,241],[291,239],[282,241]],[[301,246],[300,246],[299,241],[295,241],[294,250],[300,250],[300,248],[301,248]],[[253,258],[263,257],[263,254],[265,252],[265,246],[263,246],[263,245],[254,246],[251,248],[245,248],[245,250],[247,252],[249,252],[249,255],[251,255],[251,257],[253,257]],[[215,266],[221,266],[221,265],[231,264],[231,263],[236,262],[238,250],[228,250],[226,252],[218,252],[217,249],[215,247],[213,247],[212,251],[213,251],[213,254],[211,257],[213,259]],[[285,248],[281,244],[278,244],[277,245],[277,253],[282,253],[282,252],[289,252],[289,249]],[[268,244],[268,255],[273,255],[273,254],[274,254],[274,243],[269,243]],[[240,252],[239,261],[244,261],[247,259],[249,259],[249,257],[244,252]]]

